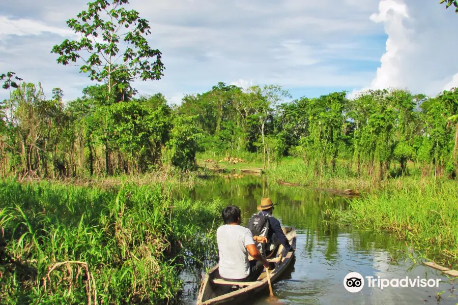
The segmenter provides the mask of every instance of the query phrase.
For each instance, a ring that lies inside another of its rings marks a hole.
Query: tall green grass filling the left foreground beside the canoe
[[[2,303],[173,300],[180,268],[215,253],[222,203],[174,201],[169,192],[0,181]]]

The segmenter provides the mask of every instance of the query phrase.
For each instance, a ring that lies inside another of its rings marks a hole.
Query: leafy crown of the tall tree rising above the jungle
[[[140,18],[137,11],[126,10],[123,5],[128,4],[128,0],[90,2],[87,11],[67,21],[81,39],[66,39],[51,51],[60,55],[58,63],[80,62],[80,72],[89,73],[91,80],[104,82],[108,104],[113,89],[125,90],[134,79],[145,81],[163,76],[161,52],[152,49],[146,40],[151,34],[148,21]],[[151,58],[156,60],[151,62]]]

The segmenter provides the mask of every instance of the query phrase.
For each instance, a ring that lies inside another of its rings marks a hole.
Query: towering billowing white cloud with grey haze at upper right
[[[458,71],[458,62],[444,56],[448,50],[458,49],[456,32],[443,30],[456,24],[452,19],[456,16],[449,13],[438,4],[430,7],[412,1],[381,0],[379,12],[370,20],[384,25],[386,50],[376,77],[361,90],[402,87],[435,96],[456,83],[458,77],[450,81],[447,75]],[[353,90],[350,98],[359,91]]]

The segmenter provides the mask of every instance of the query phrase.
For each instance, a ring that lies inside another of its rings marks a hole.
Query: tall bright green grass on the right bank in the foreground
[[[458,262],[456,181],[400,179],[351,201],[341,222],[393,232],[429,258]]]

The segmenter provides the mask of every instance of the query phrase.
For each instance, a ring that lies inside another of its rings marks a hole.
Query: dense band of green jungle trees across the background
[[[123,93],[107,103],[105,93],[106,86],[94,85],[64,103],[59,88],[46,99],[39,84],[17,84],[2,105],[2,176],[193,169],[198,151],[255,153],[265,167],[301,157],[317,174],[341,162],[349,175],[383,179],[393,164],[396,174],[408,174],[412,162],[423,175],[458,175],[458,88],[433,98],[384,89],[354,100],[339,92],[282,102],[288,93],[276,85],[242,90],[220,82],[179,106],[161,94]]]

